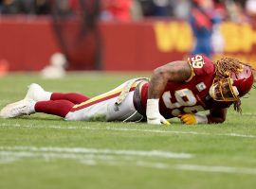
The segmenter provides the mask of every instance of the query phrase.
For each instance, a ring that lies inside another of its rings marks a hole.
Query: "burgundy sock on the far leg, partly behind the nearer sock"
[[[68,94],[53,93],[51,94],[50,99],[51,100],[68,100],[70,102],[73,102],[74,104],[80,104],[90,98],[83,94],[78,94],[78,93],[68,93]]]

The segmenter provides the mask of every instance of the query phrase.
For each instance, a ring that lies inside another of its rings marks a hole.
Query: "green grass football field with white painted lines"
[[[147,76],[144,74],[144,76]],[[34,74],[0,78],[0,107],[22,99],[27,85],[47,91],[101,94],[141,74]],[[66,122],[33,114],[0,119],[0,188],[225,188],[256,186],[256,92],[222,125],[171,127]]]

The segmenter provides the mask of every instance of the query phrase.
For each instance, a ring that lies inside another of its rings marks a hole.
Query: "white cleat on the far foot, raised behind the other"
[[[32,83],[28,86],[27,94],[24,99],[32,99],[35,102],[50,99],[51,93],[46,92],[39,84]]]

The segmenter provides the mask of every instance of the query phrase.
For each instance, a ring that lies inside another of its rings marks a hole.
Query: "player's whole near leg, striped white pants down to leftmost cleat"
[[[69,100],[46,100],[35,102],[31,96],[26,96],[24,100],[9,104],[0,112],[0,117],[9,118],[34,112],[45,112],[59,115],[66,120],[101,120],[101,121],[138,121],[143,116],[137,113],[134,102],[134,87],[125,99],[116,106],[119,94],[125,89],[126,83],[123,83],[116,89],[91,98],[79,105]],[[42,96],[49,97],[52,94],[46,92]],[[35,93],[37,94],[37,93]]]

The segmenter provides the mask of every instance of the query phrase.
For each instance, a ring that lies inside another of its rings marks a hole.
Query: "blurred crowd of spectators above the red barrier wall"
[[[97,0],[83,0],[97,1]],[[173,17],[187,19],[195,4],[204,0],[98,0],[101,3],[101,19],[106,21],[134,21],[145,17]],[[4,14],[46,15],[51,12],[53,0],[0,0],[0,12]],[[75,14],[81,0],[55,0],[64,14]],[[249,21],[256,15],[256,0],[211,0],[214,9],[224,19],[236,22]]]

